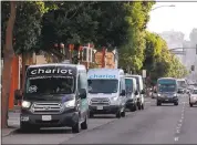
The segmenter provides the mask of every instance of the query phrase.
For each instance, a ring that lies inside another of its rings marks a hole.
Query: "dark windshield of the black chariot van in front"
[[[74,90],[74,76],[28,77],[25,84],[27,94],[71,94]]]

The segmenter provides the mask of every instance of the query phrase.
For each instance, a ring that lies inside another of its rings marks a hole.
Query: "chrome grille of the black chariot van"
[[[33,103],[31,106],[33,114],[60,114],[63,112],[61,103]]]

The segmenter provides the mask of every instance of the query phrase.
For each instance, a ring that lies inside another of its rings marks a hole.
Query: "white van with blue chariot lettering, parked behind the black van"
[[[125,76],[121,69],[91,69],[87,73],[90,117],[94,114],[125,116]]]

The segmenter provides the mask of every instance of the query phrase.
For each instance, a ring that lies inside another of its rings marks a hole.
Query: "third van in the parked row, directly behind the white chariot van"
[[[126,108],[131,112],[135,112],[137,110],[137,84],[136,80],[133,77],[125,77],[126,83]]]

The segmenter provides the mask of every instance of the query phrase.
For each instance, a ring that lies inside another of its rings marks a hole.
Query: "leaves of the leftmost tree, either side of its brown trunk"
[[[10,2],[3,1],[2,3],[2,44],[4,44],[4,34],[8,18],[10,15]],[[41,34],[42,15],[51,9],[56,9],[53,2],[43,1],[20,1],[17,3],[17,18],[13,30],[13,39],[15,39],[14,51],[17,54],[22,52],[31,52]],[[3,48],[3,46],[2,46]]]

